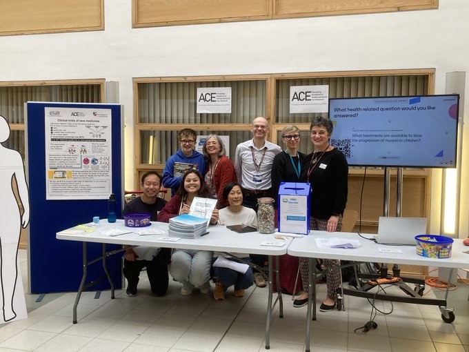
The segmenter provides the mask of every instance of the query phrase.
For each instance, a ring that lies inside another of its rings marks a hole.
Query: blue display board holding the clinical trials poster
[[[109,109],[111,111],[112,192],[116,195],[117,217],[123,200],[123,118],[119,104],[72,104],[28,102],[26,116],[26,165],[30,190],[29,264],[31,293],[77,291],[83,274],[81,242],[63,241],[55,234],[65,228],[106,219],[107,199],[46,200],[46,108]],[[104,220],[106,221],[106,220]],[[119,246],[109,246],[110,249]],[[101,244],[88,244],[88,260],[101,255]],[[122,287],[121,257],[109,257],[108,269],[114,287]],[[103,275],[101,262],[88,268],[87,282]],[[107,280],[91,290],[110,289]]]

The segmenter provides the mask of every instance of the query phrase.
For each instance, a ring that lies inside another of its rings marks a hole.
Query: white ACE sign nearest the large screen
[[[329,86],[291,86],[290,114],[327,113]]]

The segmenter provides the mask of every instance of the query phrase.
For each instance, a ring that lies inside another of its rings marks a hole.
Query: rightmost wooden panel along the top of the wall
[[[438,0],[274,0],[274,18],[438,8]]]

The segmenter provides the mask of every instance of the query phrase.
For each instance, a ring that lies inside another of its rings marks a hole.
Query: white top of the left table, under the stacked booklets
[[[158,228],[165,231],[165,235],[139,235],[137,233],[126,233],[111,237],[105,235],[101,231],[110,229],[120,229],[125,231],[138,231],[139,229]],[[195,249],[205,251],[219,252],[235,252],[235,253],[254,253],[263,255],[283,255],[287,253],[288,245],[292,242],[291,237],[285,237],[280,241],[285,242],[283,246],[264,246],[261,242],[279,241],[275,239],[274,234],[264,235],[259,232],[252,233],[236,233],[228,230],[225,226],[210,225],[208,226],[208,234],[196,239],[181,238],[176,242],[161,239],[168,237],[168,224],[164,222],[152,222],[151,226],[143,228],[132,228],[124,226],[123,220],[117,219],[114,224],[109,224],[106,219],[101,219],[93,232],[71,233],[77,228],[68,228],[68,233],[59,231],[56,234],[57,239],[66,239],[81,242],[97,242],[106,244],[127,244],[132,246],[150,246],[150,247],[166,247]]]

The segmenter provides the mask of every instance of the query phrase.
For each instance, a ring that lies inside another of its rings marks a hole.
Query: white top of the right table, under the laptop
[[[361,234],[372,238],[376,235]],[[339,237],[347,239],[359,239],[359,248],[317,248],[316,238]],[[380,252],[383,250],[400,250],[402,253]],[[295,238],[288,246],[288,254],[296,257],[313,257],[326,259],[351,260],[355,262],[386,262],[395,264],[439,266],[444,268],[469,268],[469,254],[463,251],[469,250],[464,246],[462,239],[455,239],[452,244],[451,257],[447,259],[434,259],[422,257],[415,253],[415,246],[386,246],[377,244],[367,239],[362,239],[357,233],[328,233],[326,231],[311,231],[310,235]]]

